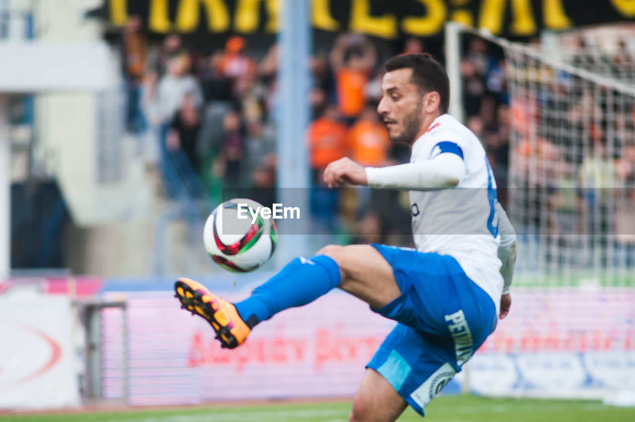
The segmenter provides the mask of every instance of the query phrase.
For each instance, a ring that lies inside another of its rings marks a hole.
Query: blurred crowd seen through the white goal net
[[[564,57],[577,69],[631,86],[632,58],[624,42],[605,53],[583,39]],[[627,227],[635,212],[632,94],[544,63],[526,60],[515,66],[536,75],[518,84],[511,105],[516,186],[526,189],[519,205],[535,210],[520,222],[565,236],[617,234],[618,243],[633,248],[634,232]]]

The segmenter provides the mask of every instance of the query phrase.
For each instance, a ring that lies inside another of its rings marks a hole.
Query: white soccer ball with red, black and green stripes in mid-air
[[[236,198],[218,205],[205,222],[205,250],[221,267],[234,272],[257,269],[276,250],[277,231],[273,219],[264,219],[260,203]]]

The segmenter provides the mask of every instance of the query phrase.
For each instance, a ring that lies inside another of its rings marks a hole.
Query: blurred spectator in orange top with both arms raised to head
[[[352,124],[366,103],[366,83],[377,60],[375,46],[363,35],[342,35],[335,41],[329,60],[335,75],[338,108]]]

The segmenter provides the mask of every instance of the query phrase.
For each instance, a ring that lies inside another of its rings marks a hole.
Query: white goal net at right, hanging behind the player
[[[554,37],[542,49],[504,44],[519,267],[549,285],[630,285],[635,57],[612,33]]]

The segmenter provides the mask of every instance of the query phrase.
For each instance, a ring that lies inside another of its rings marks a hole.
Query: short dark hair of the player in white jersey
[[[436,91],[441,96],[439,110],[442,113],[448,112],[448,101],[450,101],[450,81],[443,66],[434,60],[428,53],[403,54],[394,56],[386,61],[384,68],[386,72],[393,70],[411,68],[411,81],[422,93]]]

